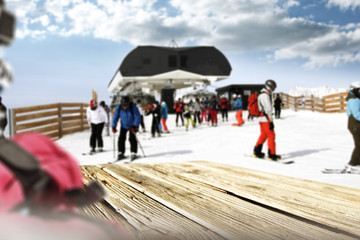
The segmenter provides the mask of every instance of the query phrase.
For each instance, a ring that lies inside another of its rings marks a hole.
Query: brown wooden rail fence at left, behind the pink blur
[[[39,132],[53,140],[88,129],[85,103],[54,103],[9,110],[10,136]]]

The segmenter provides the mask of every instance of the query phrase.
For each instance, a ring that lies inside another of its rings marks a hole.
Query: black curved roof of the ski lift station
[[[152,76],[178,69],[211,76],[231,72],[228,60],[215,47],[139,46],[119,67],[122,76]]]

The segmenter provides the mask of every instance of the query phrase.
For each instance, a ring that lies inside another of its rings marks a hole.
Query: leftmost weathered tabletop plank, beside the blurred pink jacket
[[[84,166],[83,172],[104,184],[105,200],[146,239],[223,239],[98,167]]]

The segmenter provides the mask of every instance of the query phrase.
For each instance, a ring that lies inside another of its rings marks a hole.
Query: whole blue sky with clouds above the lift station
[[[16,39],[3,50],[14,82],[8,107],[88,102],[138,45],[215,46],[230,61],[228,84],[272,78],[347,88],[360,81],[360,0],[7,0]]]

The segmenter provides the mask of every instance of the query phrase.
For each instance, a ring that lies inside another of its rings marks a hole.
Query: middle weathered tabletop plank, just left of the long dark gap
[[[241,195],[234,194],[233,189],[229,192],[219,186],[217,180],[224,177],[224,174],[212,172],[211,167],[209,172],[217,175],[215,179],[209,178],[211,174],[206,174],[203,170],[198,171],[194,166],[190,171],[191,165],[178,164],[177,167],[183,169],[181,171],[178,169],[173,171],[172,167],[173,165],[164,167],[162,164],[131,164],[103,165],[102,169],[118,181],[125,182],[149,198],[155,199],[226,239],[238,239],[240,236],[246,239],[320,239],[322,237],[351,239],[352,237],[334,233],[304,219],[299,220],[291,215],[246,201]],[[210,182],[199,180],[197,177],[199,175],[200,178],[209,179]],[[227,178],[226,181],[229,183],[235,181],[234,186],[241,187],[242,183],[237,183],[238,180]],[[244,179],[241,181],[243,182]],[[242,188],[262,189],[256,184]]]

